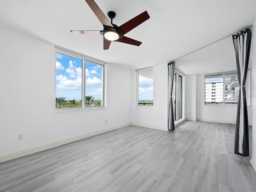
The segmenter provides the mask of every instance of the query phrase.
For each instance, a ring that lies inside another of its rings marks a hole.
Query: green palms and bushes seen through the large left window
[[[56,109],[82,107],[82,100],[65,100],[66,97],[56,97]],[[101,100],[95,100],[93,96],[85,96],[85,106],[102,106]]]

